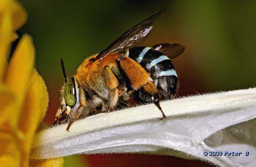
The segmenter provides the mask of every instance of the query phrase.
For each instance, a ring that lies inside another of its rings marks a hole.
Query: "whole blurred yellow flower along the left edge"
[[[27,19],[21,4],[0,1],[0,164],[1,166],[62,166],[63,158],[30,161],[31,143],[48,106],[42,77],[34,69],[35,48],[23,35],[9,64],[15,30]]]

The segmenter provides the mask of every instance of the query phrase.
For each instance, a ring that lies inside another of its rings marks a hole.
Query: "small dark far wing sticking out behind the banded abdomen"
[[[185,47],[181,44],[169,44],[169,43],[161,43],[152,46],[153,49],[162,52],[163,54],[167,55],[170,59],[181,55],[185,50]]]

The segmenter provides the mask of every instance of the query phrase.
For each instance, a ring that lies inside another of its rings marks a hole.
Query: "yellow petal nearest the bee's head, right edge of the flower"
[[[36,70],[30,78],[29,89],[24,101],[21,119],[18,127],[25,138],[20,142],[21,166],[29,165],[29,153],[35,131],[46,115],[48,93],[43,79]]]

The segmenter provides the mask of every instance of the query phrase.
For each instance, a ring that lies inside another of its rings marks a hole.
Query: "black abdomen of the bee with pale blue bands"
[[[162,99],[176,95],[178,76],[170,58],[149,47],[130,48],[126,55],[137,61],[150,74]]]

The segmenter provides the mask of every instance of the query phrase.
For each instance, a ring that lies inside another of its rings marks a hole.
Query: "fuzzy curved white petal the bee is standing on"
[[[161,106],[167,119],[159,120],[161,112],[149,104],[81,119],[70,132],[67,125],[43,130],[35,137],[31,158],[146,152],[192,156],[221,166],[256,166],[256,88],[184,97]],[[203,155],[212,150],[242,154]]]

